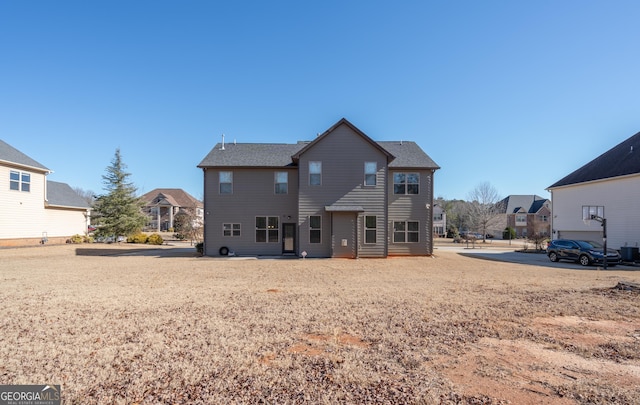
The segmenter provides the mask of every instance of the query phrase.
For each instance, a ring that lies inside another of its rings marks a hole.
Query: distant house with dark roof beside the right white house
[[[551,234],[551,201],[538,195],[510,195],[498,202],[506,214],[506,226],[513,228],[516,237]]]

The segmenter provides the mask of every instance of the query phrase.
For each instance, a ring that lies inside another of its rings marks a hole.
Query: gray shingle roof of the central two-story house
[[[313,141],[301,141],[295,144],[283,143],[217,143],[198,165],[205,167],[295,167],[300,156],[312,148],[340,125],[347,125],[376,149],[387,156],[390,168],[428,168],[440,167],[415,143],[407,141],[376,142],[342,118],[331,128]]]

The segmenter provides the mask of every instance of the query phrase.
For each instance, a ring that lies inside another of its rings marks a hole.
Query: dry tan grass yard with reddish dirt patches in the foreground
[[[640,271],[0,250],[0,384],[69,404],[633,404]]]

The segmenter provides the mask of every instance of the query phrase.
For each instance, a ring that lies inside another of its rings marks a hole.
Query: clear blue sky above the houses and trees
[[[538,194],[640,131],[637,1],[0,0],[0,139],[103,192],[183,188],[227,141],[345,117],[417,142],[435,195]]]

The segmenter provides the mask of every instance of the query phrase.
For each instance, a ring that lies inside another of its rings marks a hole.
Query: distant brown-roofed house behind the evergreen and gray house
[[[140,198],[149,217],[148,229],[157,232],[173,229],[176,215],[181,211],[194,217],[194,225],[203,222],[202,202],[180,188],[156,188]]]

